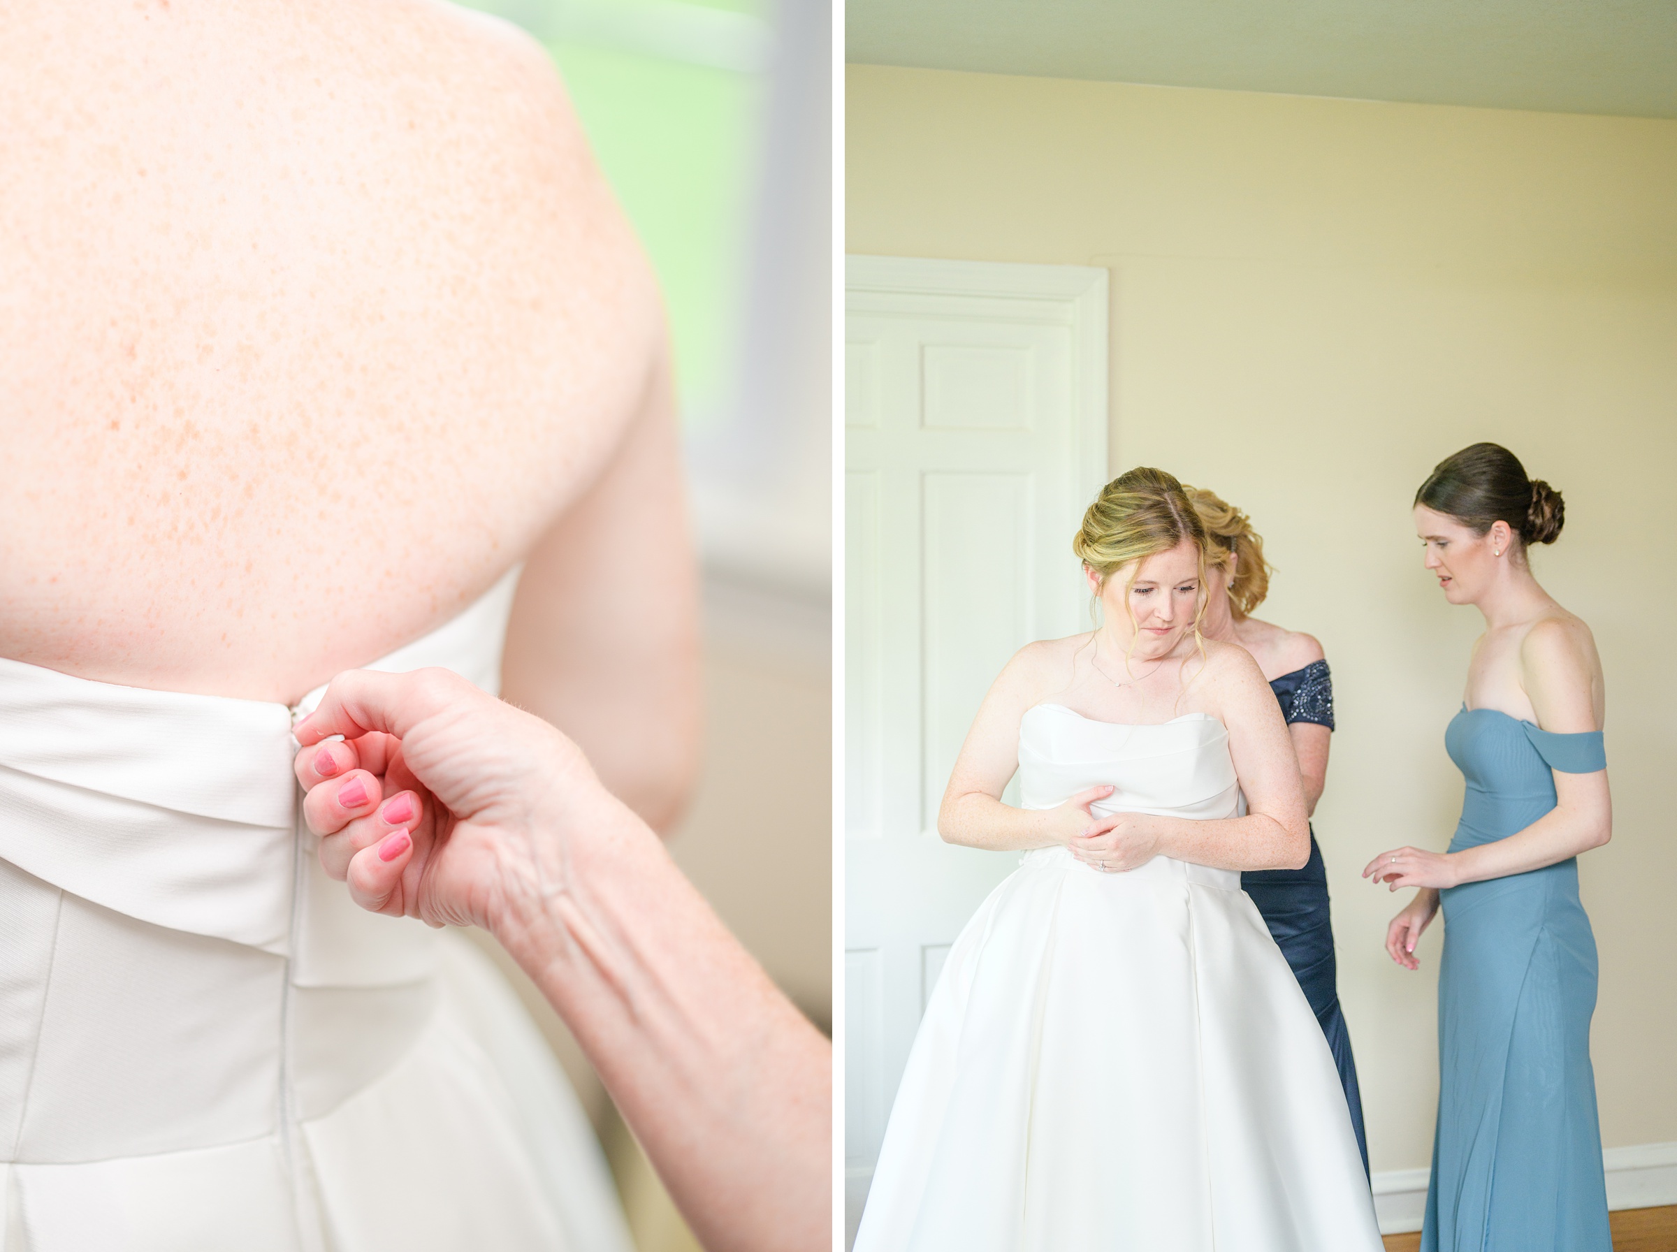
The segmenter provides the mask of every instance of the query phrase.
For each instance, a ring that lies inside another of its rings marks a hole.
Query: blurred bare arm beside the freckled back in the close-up
[[[667,831],[699,763],[698,577],[667,349],[599,483],[525,561],[501,694],[563,729]]]

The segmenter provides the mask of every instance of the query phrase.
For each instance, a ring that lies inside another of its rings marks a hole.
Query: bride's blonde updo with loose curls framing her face
[[[1182,540],[1189,540],[1199,551],[1199,602],[1194,610],[1194,645],[1201,659],[1206,654],[1206,642],[1199,635],[1199,623],[1206,615],[1206,528],[1189,503],[1187,493],[1172,474],[1149,466],[1139,466],[1107,483],[1095,498],[1095,503],[1083,513],[1083,525],[1072,540],[1072,551],[1083,561],[1105,587],[1107,578],[1132,561],[1157,556],[1171,551]],[[1139,567],[1137,567],[1139,568]],[[1130,585],[1135,573],[1130,573]],[[1129,592],[1129,588],[1125,588]],[[1137,625],[1135,610],[1130,608],[1129,595],[1124,607],[1130,613],[1130,627]],[[1135,649],[1135,634],[1130,635],[1130,650]],[[1093,637],[1092,637],[1093,639]],[[1125,655],[1125,667],[1129,657]]]

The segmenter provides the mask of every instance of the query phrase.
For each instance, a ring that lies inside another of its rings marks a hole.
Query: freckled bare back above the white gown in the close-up
[[[580,560],[552,528],[615,464],[679,515],[661,325],[552,67],[500,23],[7,5],[0,657],[288,701],[532,550],[540,615]]]

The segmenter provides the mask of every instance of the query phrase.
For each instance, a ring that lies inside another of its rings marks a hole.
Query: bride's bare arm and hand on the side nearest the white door
[[[946,843],[989,851],[1051,848],[1082,835],[1090,825],[1088,806],[1112,794],[1110,786],[1097,786],[1045,810],[1001,803],[1020,768],[1020,719],[1043,689],[1045,649],[1020,649],[984,696],[937,808],[937,833]]]

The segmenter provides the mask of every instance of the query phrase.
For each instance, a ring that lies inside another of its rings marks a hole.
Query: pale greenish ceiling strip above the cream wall
[[[845,60],[1677,117],[1677,0],[849,0]]]

